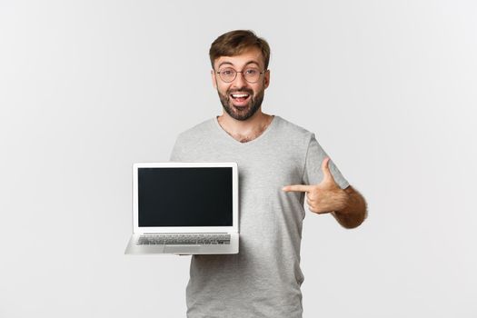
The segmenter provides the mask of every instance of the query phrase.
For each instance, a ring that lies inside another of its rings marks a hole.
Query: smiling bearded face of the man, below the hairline
[[[234,119],[244,121],[252,117],[262,105],[264,91],[270,80],[270,71],[264,71],[256,83],[245,81],[243,73],[237,73],[234,81],[226,83],[216,72],[223,72],[230,68],[237,72],[245,70],[263,72],[262,52],[260,49],[252,47],[240,55],[220,56],[214,61],[212,81],[224,110]]]

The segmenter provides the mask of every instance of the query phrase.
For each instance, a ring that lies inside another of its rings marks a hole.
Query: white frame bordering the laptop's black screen
[[[139,226],[138,170],[139,168],[187,168],[187,167],[231,167],[232,168],[232,226]],[[136,163],[133,164],[133,229],[134,234],[161,233],[238,233],[238,168],[236,163]]]

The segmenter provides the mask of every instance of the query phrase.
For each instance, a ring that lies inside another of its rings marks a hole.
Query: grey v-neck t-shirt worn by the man
[[[302,317],[305,194],[282,187],[319,184],[326,156],[313,133],[277,115],[247,143],[227,134],[216,117],[179,134],[171,161],[235,162],[239,173],[240,252],[192,257],[188,317]],[[346,188],[332,161],[329,167]],[[194,206],[186,200],[184,194],[184,204]]]

